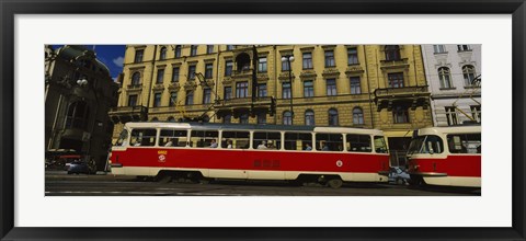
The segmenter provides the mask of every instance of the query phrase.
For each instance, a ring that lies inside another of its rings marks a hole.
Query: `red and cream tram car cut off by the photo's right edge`
[[[480,187],[480,126],[456,126],[414,130],[407,156],[412,182]]]

